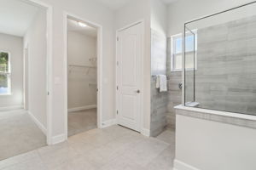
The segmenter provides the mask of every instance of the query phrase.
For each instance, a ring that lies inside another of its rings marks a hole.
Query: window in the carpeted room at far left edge
[[[0,52],[0,95],[10,94],[9,53]]]

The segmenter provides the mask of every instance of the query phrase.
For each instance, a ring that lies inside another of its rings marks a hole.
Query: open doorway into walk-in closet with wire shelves
[[[101,127],[101,26],[67,14],[67,137]]]

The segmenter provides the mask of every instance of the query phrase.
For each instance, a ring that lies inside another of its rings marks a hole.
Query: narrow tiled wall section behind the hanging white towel
[[[151,122],[150,135],[157,136],[167,125],[167,92],[155,88],[155,75],[166,75],[166,37],[151,31]]]

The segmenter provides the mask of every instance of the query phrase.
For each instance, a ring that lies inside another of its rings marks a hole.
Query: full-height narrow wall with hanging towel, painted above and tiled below
[[[157,136],[167,126],[167,92],[155,88],[156,75],[166,75],[166,4],[151,0],[151,112],[150,135]]]

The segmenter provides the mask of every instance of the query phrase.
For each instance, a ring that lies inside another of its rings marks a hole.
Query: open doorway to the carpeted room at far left
[[[0,160],[49,137],[49,7],[3,0],[0,19]],[[48,34],[48,37],[45,35]],[[28,48],[27,44],[30,44]],[[49,143],[48,143],[49,144]]]

